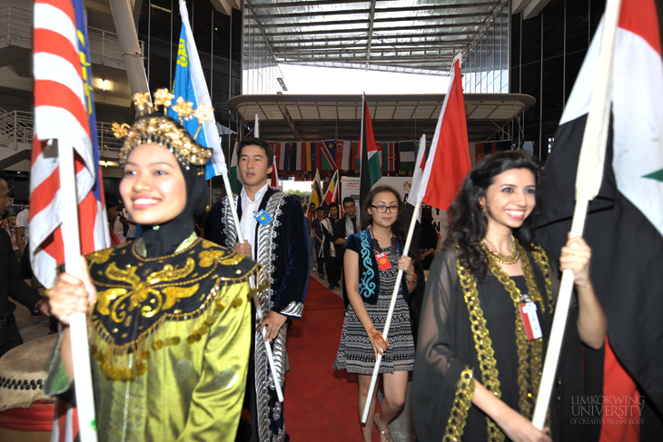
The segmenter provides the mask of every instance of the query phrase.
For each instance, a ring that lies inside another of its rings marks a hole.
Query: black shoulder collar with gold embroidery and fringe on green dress
[[[201,271],[202,266],[196,265],[191,256],[198,254],[202,259],[204,251],[212,252],[214,261],[209,263],[209,269]],[[181,266],[166,264],[163,270],[153,271],[143,279],[139,277],[140,269],[154,260],[134,260],[124,254],[110,256],[112,262],[104,271],[96,269],[101,280],[95,280],[95,285],[109,289],[99,292],[90,331],[92,354],[105,376],[134,380],[145,372],[152,351],[179,345],[184,339],[190,345],[202,340],[218,312],[242,306],[257,290],[263,290],[262,281],[266,279],[260,264],[244,261],[245,264],[234,269],[233,265],[230,269],[218,265],[241,261],[236,255],[233,251],[210,246],[208,241],[194,241],[179,257]],[[134,265],[118,266],[113,260],[115,257],[129,259]],[[94,272],[91,274],[94,277]],[[114,282],[120,285],[113,286]],[[250,287],[231,296],[227,285],[232,283],[250,283]],[[178,306],[178,300],[185,301],[183,307]],[[138,315],[135,309],[140,309]],[[144,319],[137,336],[127,341],[132,318]]]

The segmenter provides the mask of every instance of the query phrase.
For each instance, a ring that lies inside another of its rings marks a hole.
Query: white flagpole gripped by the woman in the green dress
[[[74,148],[68,142],[58,142],[57,150],[60,159],[60,213],[62,215],[64,263],[68,273],[79,280],[84,280],[84,270],[81,268],[78,216],[71,216],[72,213],[78,213]],[[74,391],[80,437],[83,442],[96,442],[90,345],[87,340],[87,318],[84,313],[79,312],[69,315],[69,332],[72,341],[72,359],[74,359]]]

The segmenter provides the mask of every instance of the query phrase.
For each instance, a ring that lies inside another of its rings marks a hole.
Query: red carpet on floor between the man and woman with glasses
[[[292,442],[361,440],[357,377],[331,367],[344,312],[338,295],[309,278],[303,317],[288,332],[285,427]]]

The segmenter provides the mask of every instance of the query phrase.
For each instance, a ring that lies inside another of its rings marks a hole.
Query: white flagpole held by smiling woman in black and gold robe
[[[621,0],[608,0],[604,17],[601,50],[599,54],[598,76],[589,104],[589,114],[582,137],[576,176],[576,207],[571,222],[571,237],[581,236],[589,201],[599,193],[603,179],[606,142],[608,140],[610,103],[612,96],[612,58],[615,46],[615,34],[619,18]],[[550,395],[559,362],[564,329],[569,316],[571,290],[573,289],[573,270],[564,270],[559,285],[559,296],[555,317],[552,320],[546,362],[539,383],[539,394],[534,408],[532,424],[543,429],[549,408]]]

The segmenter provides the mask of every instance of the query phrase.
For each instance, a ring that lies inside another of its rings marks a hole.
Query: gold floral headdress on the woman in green
[[[113,123],[115,137],[124,138],[120,150],[121,164],[126,163],[126,159],[134,147],[146,142],[154,142],[165,147],[187,169],[190,164],[203,166],[210,159],[212,150],[203,147],[195,139],[200,133],[203,123],[213,121],[213,108],[201,104],[194,110],[193,103],[185,102],[182,97],[179,97],[173,104],[173,98],[173,93],[169,93],[167,89],[158,89],[154,93],[153,103],[150,101],[149,93],[134,94],[134,104],[142,117],[131,126],[127,123]],[[154,113],[158,111],[158,106],[162,106],[163,115]],[[172,118],[166,116],[169,107],[177,113],[180,124],[193,117],[198,120],[198,130],[193,137]]]

